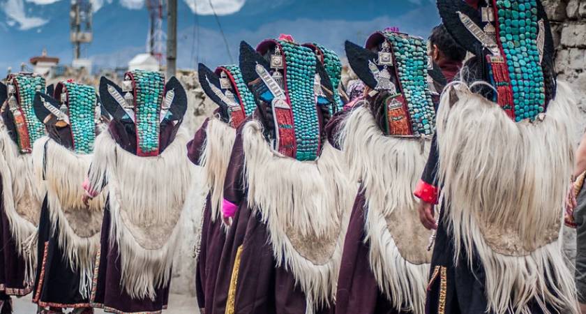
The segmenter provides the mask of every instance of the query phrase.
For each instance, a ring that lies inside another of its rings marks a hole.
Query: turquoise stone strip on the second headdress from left
[[[74,82],[65,83],[73,148],[77,154],[90,154],[96,140],[96,89]]]

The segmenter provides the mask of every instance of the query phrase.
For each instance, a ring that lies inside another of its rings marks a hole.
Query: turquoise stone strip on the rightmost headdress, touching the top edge
[[[535,0],[497,0],[499,40],[509,68],[515,120],[535,119],[543,112],[546,89],[537,48]]]

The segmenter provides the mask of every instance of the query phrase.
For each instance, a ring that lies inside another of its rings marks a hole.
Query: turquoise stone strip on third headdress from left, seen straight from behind
[[[163,103],[165,77],[162,73],[135,70],[137,144],[143,153],[159,147],[159,113]]]

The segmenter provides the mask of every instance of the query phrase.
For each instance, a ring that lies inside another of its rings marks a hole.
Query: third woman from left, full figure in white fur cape
[[[160,313],[183,239],[181,217],[197,206],[195,165],[181,129],[186,92],[176,78],[133,70],[122,87],[102,77],[112,115],[96,137],[85,200],[106,188],[90,304],[113,313]],[[107,186],[106,186],[107,184]]]

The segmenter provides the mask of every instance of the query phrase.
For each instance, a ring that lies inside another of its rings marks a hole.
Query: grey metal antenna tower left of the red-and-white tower
[[[70,41],[73,43],[73,59],[82,56],[83,44],[91,43],[91,3],[89,0],[71,0]]]

